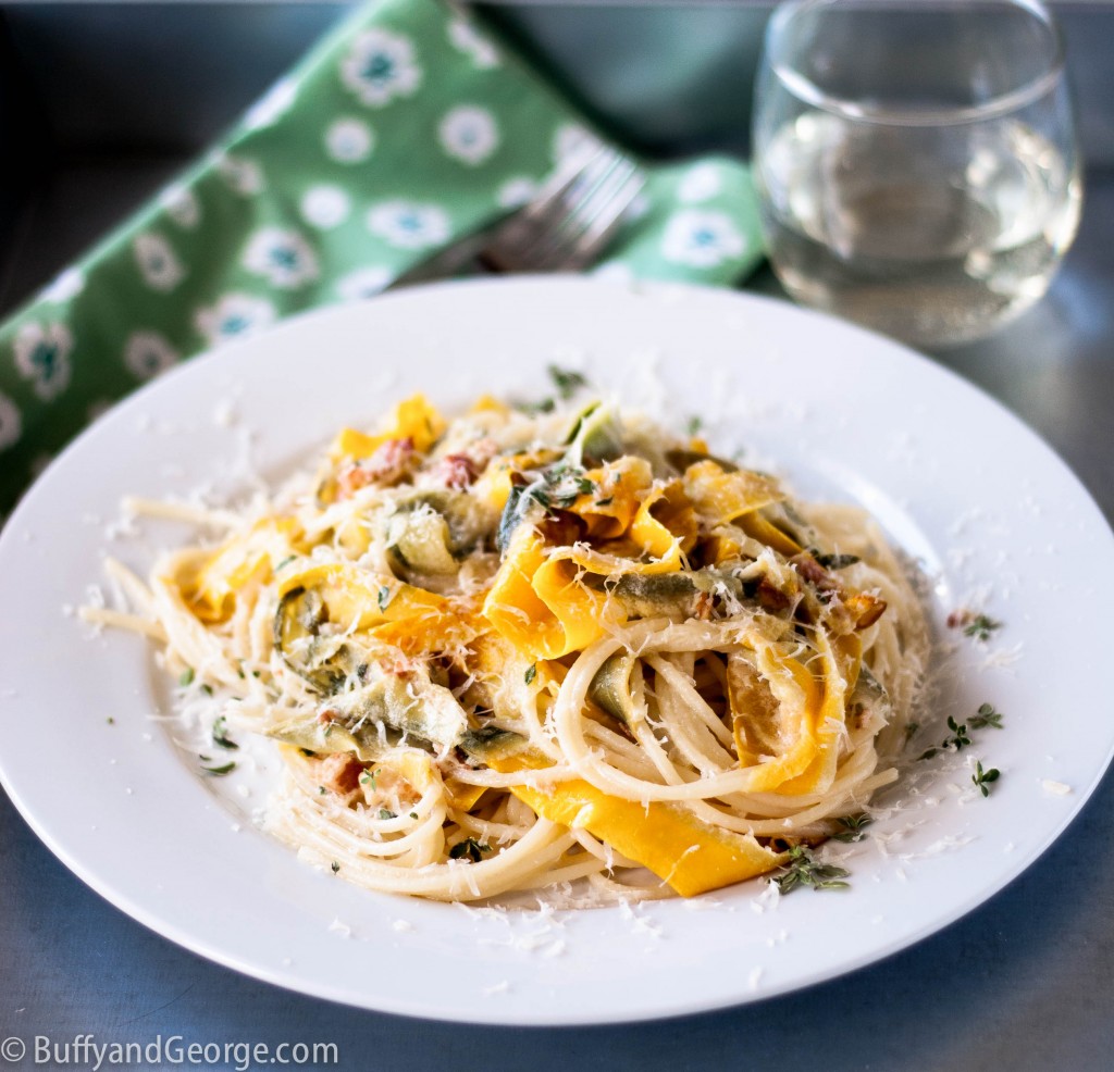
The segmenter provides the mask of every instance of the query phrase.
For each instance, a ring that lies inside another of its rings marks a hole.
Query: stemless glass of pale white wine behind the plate
[[[1028,308],[1078,226],[1063,45],[1036,0],[782,6],[753,154],[785,289],[917,345]]]

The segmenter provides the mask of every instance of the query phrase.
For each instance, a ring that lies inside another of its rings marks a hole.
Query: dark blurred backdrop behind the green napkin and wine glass
[[[772,3],[475,7],[631,148],[659,158],[747,151]],[[1114,6],[1053,7],[1084,156],[1102,167],[1114,154]],[[203,151],[348,9],[265,0],[0,6],[0,314]]]

